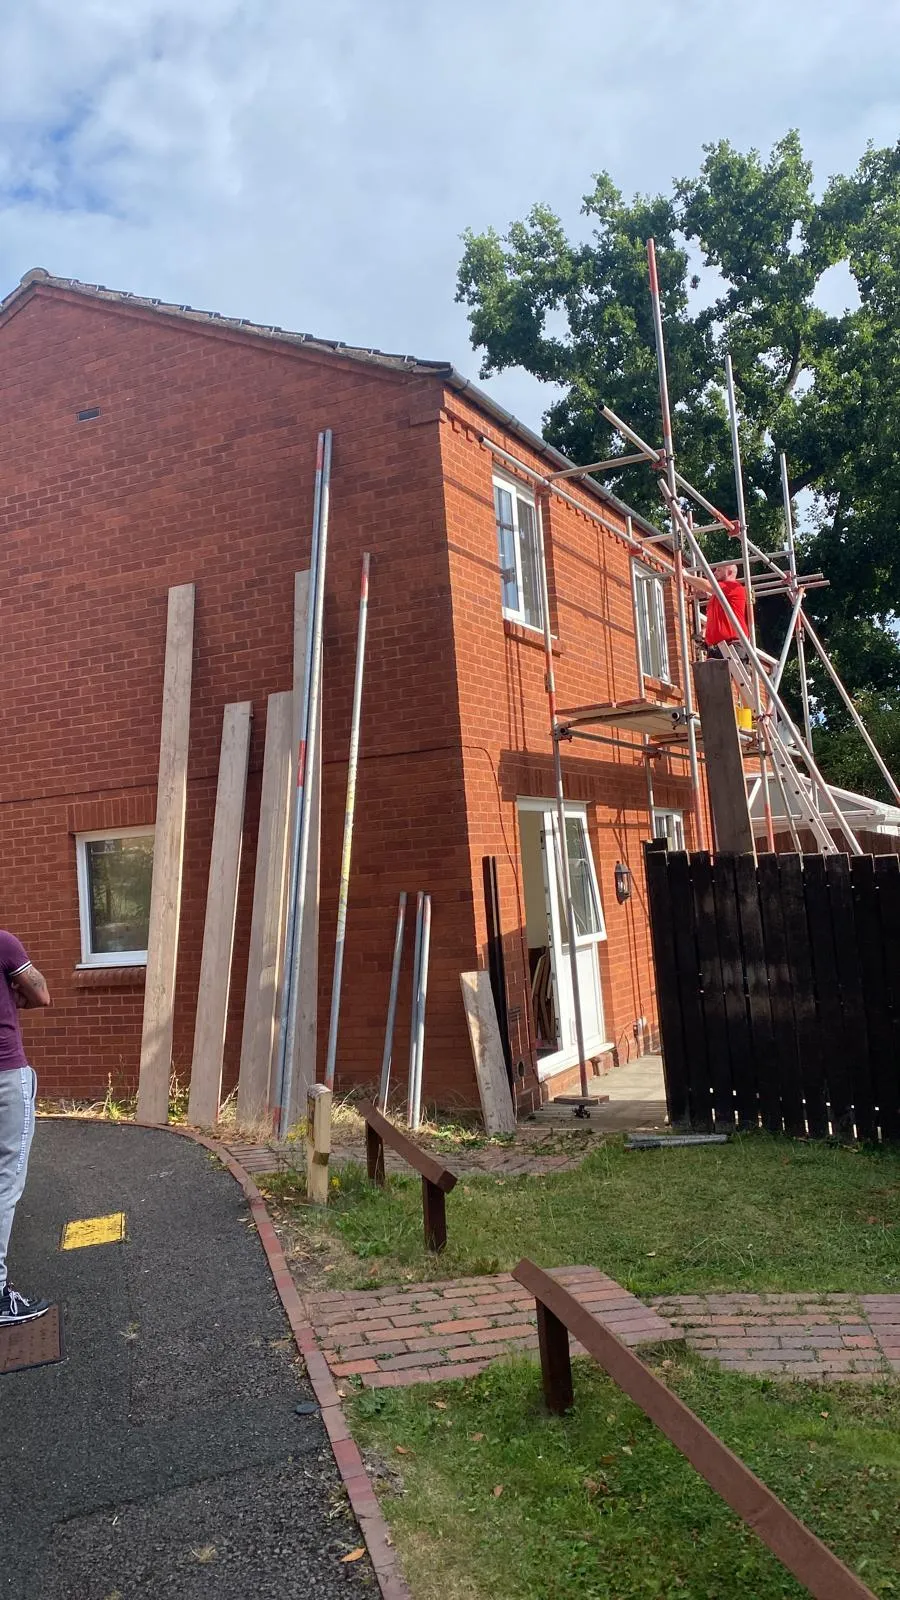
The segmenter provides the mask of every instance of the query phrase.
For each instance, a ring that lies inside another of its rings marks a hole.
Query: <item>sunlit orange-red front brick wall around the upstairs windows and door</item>
[[[460,723],[463,739],[469,854],[476,883],[476,941],[479,965],[487,965],[480,859],[498,859],[501,920],[514,1011],[514,1050],[533,1064],[527,981],[525,906],[519,843],[517,798],[554,795],[552,742],[544,690],[543,637],[504,624],[493,515],[493,472],[512,475],[480,442],[495,443],[536,472],[548,464],[516,437],[504,437],[461,397],[447,394],[440,429],[447,483],[447,531],[453,629],[460,662]],[[525,486],[533,483],[522,477]],[[578,498],[572,485],[567,490]],[[602,509],[597,499],[585,502]],[[625,522],[604,510],[625,531]],[[544,507],[549,566],[549,605],[554,635],[554,675],[559,707],[604,704],[641,694],[631,552],[596,522],[551,496]],[[669,661],[681,680],[671,600]],[[645,693],[663,698],[661,686]],[[677,694],[668,698],[676,702]],[[602,731],[602,730],[594,730]],[[617,730],[607,730],[617,736]],[[618,738],[623,738],[618,734]],[[628,738],[628,736],[625,736]],[[644,760],[636,750],[573,741],[564,746],[565,794],[585,803],[605,912],[607,939],[599,946],[604,1021],[618,1059],[636,1054],[634,1021],[655,1022],[642,842],[650,835]],[[653,765],[658,806],[685,813],[690,832],[690,784],[682,760]],[[613,890],[617,861],[633,872],[633,898],[618,904]],[[554,1090],[569,1078],[554,1078]],[[525,1096],[535,1086],[528,1074]]]

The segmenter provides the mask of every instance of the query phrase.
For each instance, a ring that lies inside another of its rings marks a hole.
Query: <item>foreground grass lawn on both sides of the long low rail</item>
[[[658,1368],[660,1370],[660,1368]],[[900,1387],[663,1376],[874,1590],[900,1594]],[[597,1366],[549,1418],[533,1362],[357,1394],[416,1600],[775,1600],[802,1589]]]

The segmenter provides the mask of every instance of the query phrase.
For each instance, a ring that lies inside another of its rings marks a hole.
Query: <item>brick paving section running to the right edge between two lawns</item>
[[[874,1381],[900,1373],[900,1294],[668,1294],[653,1307],[738,1373]]]

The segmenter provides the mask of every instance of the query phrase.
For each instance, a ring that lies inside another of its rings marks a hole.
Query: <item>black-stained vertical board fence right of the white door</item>
[[[669,1122],[900,1138],[900,858],[645,846]]]

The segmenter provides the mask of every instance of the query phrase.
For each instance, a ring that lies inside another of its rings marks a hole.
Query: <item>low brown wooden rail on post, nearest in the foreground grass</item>
[[[706,1483],[753,1528],[817,1600],[874,1600],[871,1589],[799,1522],[615,1333],[549,1272],[522,1259],[512,1277],[535,1296],[544,1400],[557,1414],[573,1402],[569,1334],[673,1442]]]

